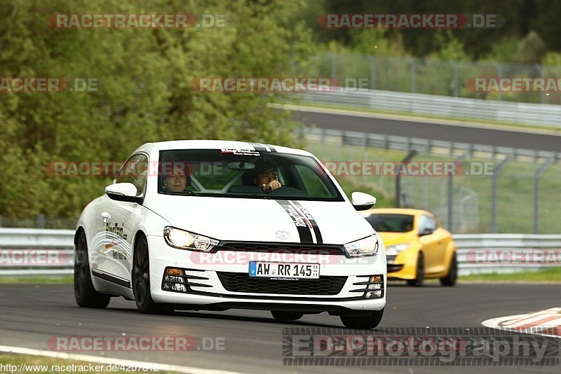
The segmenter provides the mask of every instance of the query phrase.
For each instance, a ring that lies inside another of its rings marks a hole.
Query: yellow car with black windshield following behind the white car
[[[458,277],[456,245],[433,214],[419,209],[370,209],[361,212],[386,245],[388,279],[421,286],[438,278],[454,286]]]

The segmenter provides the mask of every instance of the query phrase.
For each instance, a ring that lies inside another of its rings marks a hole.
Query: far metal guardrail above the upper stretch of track
[[[311,104],[561,127],[561,105],[499,102],[381,90],[353,91],[346,88],[329,92],[306,92],[299,97],[302,102]]]

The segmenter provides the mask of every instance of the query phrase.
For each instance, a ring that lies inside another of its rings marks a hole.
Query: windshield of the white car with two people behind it
[[[158,193],[343,201],[312,157],[236,149],[161,151]]]

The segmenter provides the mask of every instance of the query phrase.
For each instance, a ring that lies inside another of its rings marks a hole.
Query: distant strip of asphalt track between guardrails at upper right
[[[561,152],[561,136],[553,132],[547,133],[539,130],[528,132],[524,129],[518,130],[516,127],[485,127],[485,125],[472,126],[461,125],[461,123],[451,125],[429,118],[423,118],[420,121],[407,120],[405,117],[404,119],[389,119],[384,116],[359,112],[341,113],[341,111],[337,111],[339,113],[334,113],[329,110],[326,110],[329,113],[316,112],[322,110],[294,111],[294,118],[306,125],[315,125],[325,129]]]

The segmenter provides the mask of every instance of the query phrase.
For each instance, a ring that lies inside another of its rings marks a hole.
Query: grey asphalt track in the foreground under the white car
[[[480,327],[481,322],[558,306],[559,284],[428,284],[388,286],[388,303],[379,330],[392,327]],[[113,298],[105,310],[79,308],[72,285],[0,286],[1,345],[48,350],[53,336],[191,336],[221,338],[223,350],[190,352],[76,352],[120,359],[168,363],[244,373],[560,373],[561,366],[283,366],[283,327],[334,327],[328,314],[308,315],[286,324],[269,312],[175,312],[146,315],[134,302]],[[561,342],[561,340],[559,340]]]

